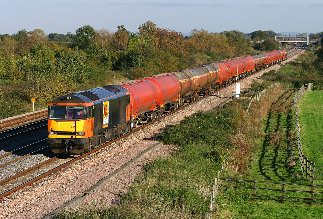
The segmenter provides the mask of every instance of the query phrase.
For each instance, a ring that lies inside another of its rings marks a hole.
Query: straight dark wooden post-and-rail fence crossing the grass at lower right
[[[285,198],[288,199],[303,199],[303,200],[310,200],[311,201],[311,205],[313,205],[313,201],[323,201],[323,199],[316,199],[313,198],[314,194],[323,194],[323,192],[315,192],[314,188],[315,187],[323,187],[323,185],[314,185],[313,181],[312,184],[298,184],[298,183],[288,183],[288,182],[264,182],[264,181],[256,181],[256,179],[254,180],[237,180],[237,179],[224,179],[224,178],[219,178],[219,180],[227,180],[228,183],[227,185],[221,185],[222,187],[231,187],[231,188],[241,188],[241,189],[252,189],[253,193],[252,194],[248,194],[248,193],[236,193],[239,195],[252,195],[253,196],[253,201],[256,200],[256,196],[262,196],[262,197],[272,197],[272,198],[281,198],[282,199],[282,203],[285,203]],[[239,181],[239,182],[252,182],[253,186],[252,187],[244,187],[244,186],[234,186],[231,185],[231,181]],[[272,188],[259,188],[256,187],[256,183],[269,183],[269,184],[282,184],[282,189],[272,189]],[[288,190],[286,189],[286,185],[297,185],[297,186],[309,186],[311,188],[311,191],[306,191],[306,190]],[[278,195],[262,195],[262,194],[256,194],[256,190],[269,190],[269,191],[277,191],[277,192],[282,192],[281,196]],[[297,192],[297,193],[310,193],[310,197],[309,198],[304,198],[304,197],[289,197],[289,196],[285,196],[285,192]]]

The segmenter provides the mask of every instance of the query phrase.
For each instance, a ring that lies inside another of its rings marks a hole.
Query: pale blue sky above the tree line
[[[182,33],[201,28],[311,33],[323,31],[322,12],[321,0],[9,0],[1,2],[0,34],[38,28],[66,34],[87,24],[111,32],[122,24],[134,32],[147,20]]]

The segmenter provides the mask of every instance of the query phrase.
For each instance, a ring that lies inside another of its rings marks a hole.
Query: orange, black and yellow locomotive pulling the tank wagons
[[[130,92],[105,86],[68,94],[48,106],[49,148],[83,154],[130,131]]]

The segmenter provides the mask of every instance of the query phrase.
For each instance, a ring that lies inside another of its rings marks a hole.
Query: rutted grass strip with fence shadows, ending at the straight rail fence
[[[283,93],[272,104],[266,120],[263,121],[266,136],[250,173],[258,181],[285,180],[295,183],[295,174],[301,173],[297,165],[286,167],[286,159],[297,156],[295,117],[292,110],[293,94],[296,92],[293,90]]]

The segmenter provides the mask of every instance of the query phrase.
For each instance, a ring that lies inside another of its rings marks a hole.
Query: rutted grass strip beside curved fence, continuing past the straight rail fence
[[[283,93],[274,102],[270,111],[263,121],[264,137],[253,164],[247,176],[243,179],[269,182],[291,182],[310,184],[303,177],[300,170],[297,153],[297,135],[295,116],[293,112],[293,96],[297,90]],[[232,178],[237,178],[232,176]],[[252,187],[252,182],[231,182],[231,185]],[[282,189],[281,184],[257,183],[257,188]],[[291,186],[287,190],[306,190],[310,187]],[[321,191],[315,189],[314,191]],[[223,218],[323,218],[323,202],[314,201],[314,206],[309,201],[299,199],[256,197],[253,202],[252,196],[236,195],[234,193],[253,193],[251,189],[222,188],[218,197],[218,204],[228,204],[221,215]],[[256,194],[281,196],[280,191],[256,190]],[[285,192],[285,196],[309,198],[309,193]],[[228,198],[229,197],[229,198]],[[244,197],[244,198],[242,198]],[[314,194],[314,198],[322,199],[320,194]]]

